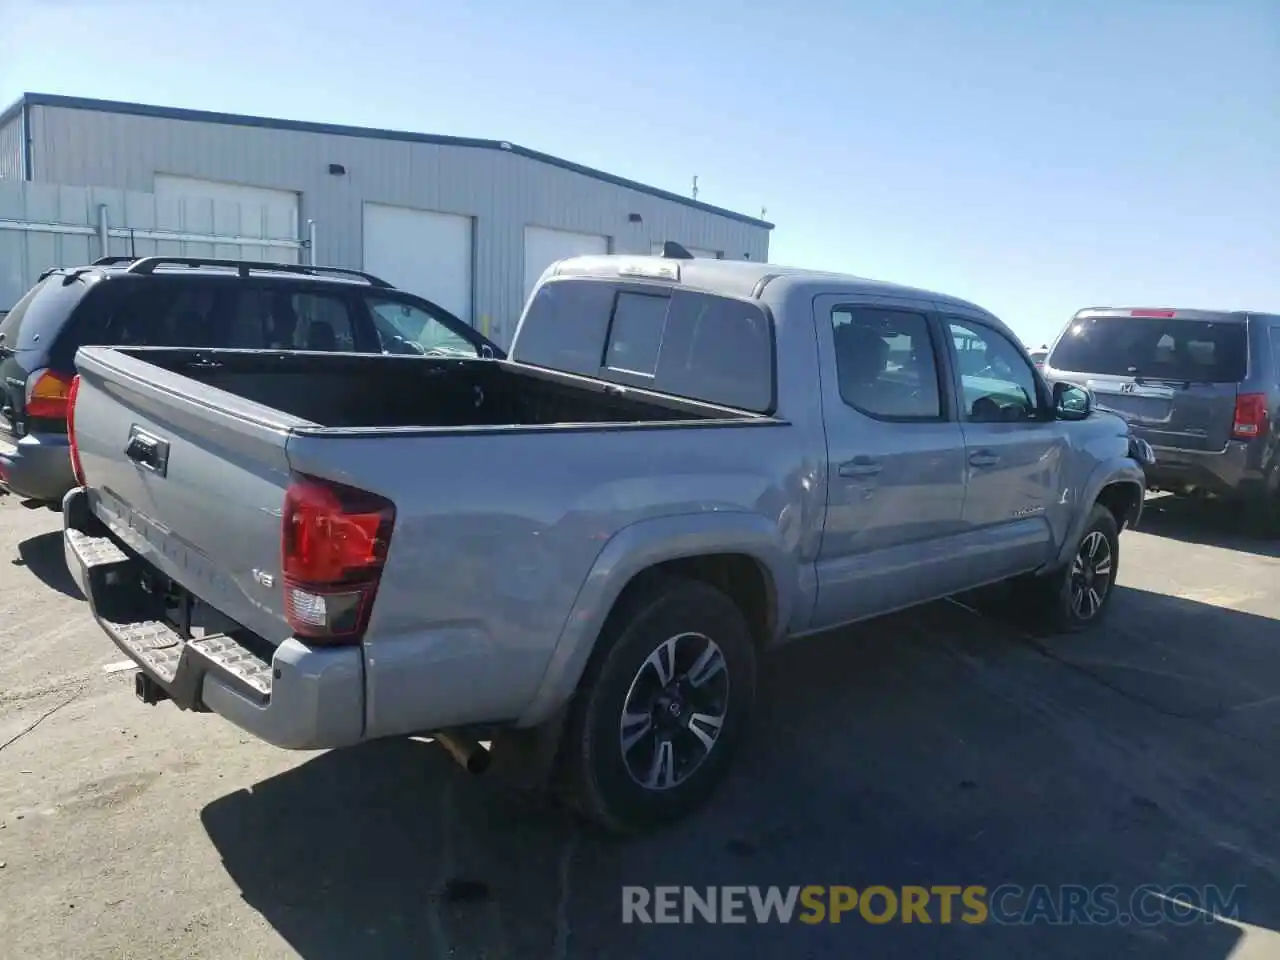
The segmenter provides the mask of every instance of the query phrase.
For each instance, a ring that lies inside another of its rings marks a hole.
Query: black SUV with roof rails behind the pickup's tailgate
[[[504,356],[358,270],[183,257],[49,270],[0,320],[0,495],[56,506],[74,485],[67,394],[86,344]]]

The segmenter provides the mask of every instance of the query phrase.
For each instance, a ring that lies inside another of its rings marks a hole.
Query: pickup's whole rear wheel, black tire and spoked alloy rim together
[[[716,788],[755,700],[755,644],[733,602],[698,581],[663,580],[611,621],[563,746],[570,800],[622,833]]]

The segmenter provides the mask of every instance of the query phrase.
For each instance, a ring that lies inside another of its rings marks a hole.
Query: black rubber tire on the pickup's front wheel
[[[1094,536],[1101,535],[1101,541]],[[1097,544],[1097,552],[1091,558],[1083,558],[1092,545]],[[1078,558],[1085,567],[1092,562],[1096,567],[1102,567],[1105,556],[1110,557],[1106,564],[1105,581],[1096,572],[1091,579],[1083,581],[1076,573]],[[1044,630],[1074,634],[1101,623],[1111,609],[1111,596],[1115,594],[1116,576],[1120,573],[1120,527],[1116,525],[1115,515],[1101,503],[1094,503],[1089,509],[1084,530],[1071,552],[1071,561],[1065,567],[1044,576],[1028,577],[1019,582],[1018,593],[1027,613]],[[1100,584],[1102,589],[1100,589]],[[1087,590],[1092,585],[1094,596]]]

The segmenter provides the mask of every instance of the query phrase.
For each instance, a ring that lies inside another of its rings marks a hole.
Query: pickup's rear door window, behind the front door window
[[[924,314],[836,307],[831,333],[845,403],[883,420],[942,416],[938,367]]]

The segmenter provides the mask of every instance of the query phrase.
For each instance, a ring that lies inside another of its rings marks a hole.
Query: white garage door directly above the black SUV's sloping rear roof
[[[365,270],[471,320],[470,216],[365,204]]]

